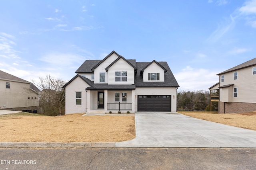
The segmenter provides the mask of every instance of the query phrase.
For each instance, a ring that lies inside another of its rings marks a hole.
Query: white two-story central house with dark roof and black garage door
[[[66,114],[176,112],[179,85],[166,62],[136,62],[112,51],[103,60],[86,60],[76,73],[63,87]]]

